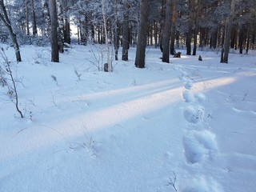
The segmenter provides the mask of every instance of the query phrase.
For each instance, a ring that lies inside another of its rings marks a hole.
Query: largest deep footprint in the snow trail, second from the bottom
[[[215,135],[209,130],[189,131],[183,137],[183,145],[187,162],[202,162],[206,158],[213,159],[218,147]]]

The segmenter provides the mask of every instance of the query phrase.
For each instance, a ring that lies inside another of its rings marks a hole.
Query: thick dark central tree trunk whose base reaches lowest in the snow
[[[140,3],[138,43],[137,43],[136,57],[135,57],[135,66],[138,68],[145,67],[147,12],[148,12],[148,0],[142,0]]]

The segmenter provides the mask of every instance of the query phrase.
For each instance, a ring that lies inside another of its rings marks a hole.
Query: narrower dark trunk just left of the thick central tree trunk
[[[122,24],[122,61],[128,61],[129,50],[129,5],[127,1],[123,1],[123,24]]]

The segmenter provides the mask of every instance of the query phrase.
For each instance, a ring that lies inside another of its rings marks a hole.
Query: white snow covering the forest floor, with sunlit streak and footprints
[[[254,52],[222,64],[217,52],[198,51],[200,62],[179,51],[168,64],[148,48],[138,69],[131,47],[106,73],[97,45],[60,63],[49,47],[22,46],[25,118],[0,90],[0,191],[255,191]]]

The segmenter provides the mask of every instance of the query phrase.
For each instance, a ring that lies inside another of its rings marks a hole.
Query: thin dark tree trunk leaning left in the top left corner
[[[3,0],[0,0],[0,7],[1,7],[1,10],[2,10],[2,13],[0,13],[0,19],[2,20],[2,22],[6,26],[8,32],[10,34],[10,38],[11,38],[12,42],[14,43],[16,61],[17,62],[22,62],[22,57],[21,57],[21,54],[20,54],[17,37],[16,37],[16,34],[13,31],[13,28],[10,25],[10,19],[8,18],[8,14],[7,14],[7,11],[6,11],[6,6],[4,5]]]

